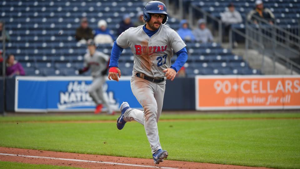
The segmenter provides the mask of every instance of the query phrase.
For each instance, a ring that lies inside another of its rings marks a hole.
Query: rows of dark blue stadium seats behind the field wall
[[[203,8],[207,4],[215,5],[209,1],[204,2]],[[98,20],[105,19],[108,28],[117,37],[118,23],[122,16],[128,13],[134,22],[136,13],[144,5],[145,2],[141,0],[4,0],[1,2],[1,16],[11,36],[11,41],[7,43],[7,53],[15,54],[27,75],[78,75],[77,70],[83,67],[83,56],[87,52],[86,46],[76,42],[74,38],[80,18],[87,17],[89,26],[93,29],[97,28]],[[177,30],[179,21],[170,17],[167,25]],[[105,54],[110,54],[111,49],[112,44],[98,46],[98,50]],[[187,50],[189,58],[185,67],[188,76],[260,74],[260,71],[252,70],[240,56],[222,49],[217,43],[187,43]],[[176,56],[172,61],[175,59]],[[131,74],[133,54],[130,49],[124,49],[119,66],[122,75]],[[89,72],[84,75],[89,75]]]

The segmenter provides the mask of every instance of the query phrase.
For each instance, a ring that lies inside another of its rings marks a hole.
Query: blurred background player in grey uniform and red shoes
[[[97,105],[95,114],[100,113],[104,105],[107,108],[107,113],[113,115],[114,111],[108,104],[108,96],[102,88],[103,83],[105,83],[104,75],[107,73],[109,56],[96,50],[93,39],[89,39],[87,44],[88,53],[84,55],[84,68],[78,70],[79,74],[91,69],[93,83],[90,85],[88,93]]]

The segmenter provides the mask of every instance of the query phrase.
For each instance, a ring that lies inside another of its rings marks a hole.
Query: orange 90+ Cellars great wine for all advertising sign
[[[300,109],[300,76],[196,76],[196,110]]]

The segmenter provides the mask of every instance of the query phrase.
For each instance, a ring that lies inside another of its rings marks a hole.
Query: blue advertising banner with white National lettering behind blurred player
[[[86,76],[17,76],[15,111],[93,111],[95,103],[88,94],[91,83],[92,77]],[[119,82],[107,80],[103,90],[116,111],[119,111],[123,101],[127,101],[133,108],[142,109],[132,94],[130,76],[122,77]]]

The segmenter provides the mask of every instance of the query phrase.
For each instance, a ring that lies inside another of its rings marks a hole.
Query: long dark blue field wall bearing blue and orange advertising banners
[[[6,83],[6,110],[44,113],[93,111],[95,104],[88,94],[91,83],[92,78],[86,76],[17,76]],[[119,82],[107,80],[103,90],[109,104],[117,111],[123,101],[128,101],[133,108],[142,109],[131,92],[129,76],[123,76]],[[300,109],[300,76],[175,78],[167,81],[163,104],[163,110],[266,109]]]

